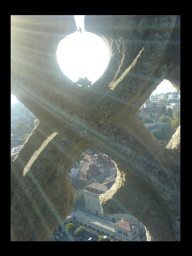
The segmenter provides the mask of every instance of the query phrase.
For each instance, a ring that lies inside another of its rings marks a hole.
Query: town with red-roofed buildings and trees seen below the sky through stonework
[[[138,119],[166,147],[180,125],[180,94],[151,95],[137,113]],[[11,112],[11,157],[17,156],[39,120],[21,103]],[[71,184],[76,192],[72,213],[58,226],[50,241],[147,241],[142,223],[129,212],[104,214],[99,195],[115,183],[117,168],[104,152],[90,147],[77,158],[70,170]],[[84,227],[84,236],[67,236],[66,226]],[[91,239],[90,239],[91,238]],[[90,239],[90,240],[88,240]]]

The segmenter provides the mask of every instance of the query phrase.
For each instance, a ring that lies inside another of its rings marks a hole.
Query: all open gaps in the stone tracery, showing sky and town
[[[74,18],[77,31],[59,43],[57,61],[74,83],[84,78],[91,86],[106,69],[109,51],[100,37],[85,31],[84,15]],[[164,80],[141,106],[137,118],[166,147],[180,125],[180,93]],[[13,159],[38,123],[11,94]],[[50,241],[147,241],[145,227],[129,212],[103,214],[101,211],[99,195],[108,191],[117,177],[115,163],[105,152],[89,147],[77,158],[69,175],[77,195],[73,212],[55,229]]]

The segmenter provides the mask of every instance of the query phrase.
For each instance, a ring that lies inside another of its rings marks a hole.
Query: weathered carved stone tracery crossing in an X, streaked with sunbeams
[[[180,129],[165,148],[136,117],[163,79],[180,91],[179,19],[85,15],[86,31],[103,38],[110,58],[82,88],[56,61],[58,43],[76,30],[73,16],[11,16],[11,92],[40,120],[11,162],[12,241],[49,241],[72,211],[69,171],[91,145],[119,173],[100,195],[103,211],[128,211],[148,241],[180,241]]]

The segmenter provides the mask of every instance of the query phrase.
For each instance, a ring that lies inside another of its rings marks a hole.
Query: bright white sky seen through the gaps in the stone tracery
[[[82,33],[76,31],[61,40],[56,55],[62,72],[73,82],[79,77],[87,77],[93,84],[107,67],[109,52],[99,36],[84,30],[84,16],[74,15],[77,29],[81,27]],[[174,91],[171,83],[164,80],[152,94]],[[11,95],[11,104],[17,101],[15,96]]]

